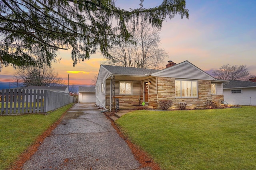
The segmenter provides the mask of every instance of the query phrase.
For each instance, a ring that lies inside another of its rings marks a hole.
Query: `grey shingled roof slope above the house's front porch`
[[[147,69],[147,68],[134,68],[134,67],[122,67],[122,66],[110,66],[102,65],[112,74],[129,75],[129,76],[147,76],[153,72],[159,70]]]

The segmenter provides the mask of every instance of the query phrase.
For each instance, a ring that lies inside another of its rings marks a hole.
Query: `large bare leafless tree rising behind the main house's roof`
[[[128,27],[132,31],[132,27]],[[160,30],[141,22],[132,32],[132,41],[122,41],[114,46],[105,64],[116,66],[160,69],[160,64],[168,57],[164,49],[160,49]]]

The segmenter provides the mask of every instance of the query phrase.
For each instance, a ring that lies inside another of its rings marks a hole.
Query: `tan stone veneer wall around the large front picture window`
[[[224,100],[223,95],[211,94],[211,81],[198,80],[198,98],[175,98],[175,78],[158,77],[158,94],[149,96],[149,106],[155,109],[160,109],[158,102],[160,100],[172,100],[173,105],[171,108],[178,108],[180,103],[186,103],[186,108],[205,108],[207,100],[213,101],[218,104],[219,100]]]

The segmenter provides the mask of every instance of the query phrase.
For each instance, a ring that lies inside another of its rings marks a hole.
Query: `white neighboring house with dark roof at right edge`
[[[229,80],[223,85],[224,101],[232,105],[256,106],[256,82]]]

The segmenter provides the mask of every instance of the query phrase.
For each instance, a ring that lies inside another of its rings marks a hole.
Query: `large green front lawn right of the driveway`
[[[133,111],[116,121],[163,170],[255,170],[256,107]]]

